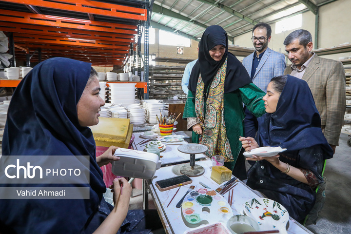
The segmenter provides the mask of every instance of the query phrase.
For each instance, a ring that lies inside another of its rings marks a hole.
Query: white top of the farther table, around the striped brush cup
[[[134,142],[137,145],[137,150],[144,150],[145,146],[140,146],[144,144],[138,144],[143,140],[146,140],[144,138],[139,137],[140,133],[133,133],[134,134]],[[176,163],[185,163],[190,161],[190,155],[189,154],[184,154],[178,151],[178,146],[181,144],[188,144],[185,140],[180,141],[180,142],[174,142],[174,143],[169,143],[169,142],[162,142],[167,145],[166,150],[163,152],[160,152],[161,157],[161,166],[166,166],[170,164],[176,164]],[[135,148],[135,145],[133,144],[133,147]],[[197,154],[195,155],[195,160],[196,159],[205,159],[206,156],[204,154]]]

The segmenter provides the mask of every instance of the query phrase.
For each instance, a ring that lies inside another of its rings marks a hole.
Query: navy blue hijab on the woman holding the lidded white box
[[[7,200],[0,224],[20,233],[79,233],[97,210],[106,187],[93,134],[79,125],[77,114],[90,71],[91,63],[66,58],[35,66],[12,96],[2,141],[4,156],[90,156],[90,199]]]

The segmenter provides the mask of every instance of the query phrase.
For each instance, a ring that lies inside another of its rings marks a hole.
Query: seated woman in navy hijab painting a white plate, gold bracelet
[[[267,114],[257,118],[256,140],[239,140],[246,151],[263,146],[287,150],[273,157],[247,158],[256,162],[248,171],[246,184],[302,221],[314,205],[314,189],[323,182],[324,160],[331,158],[333,151],[320,128],[321,119],[306,81],[289,75],[274,77],[263,100]]]

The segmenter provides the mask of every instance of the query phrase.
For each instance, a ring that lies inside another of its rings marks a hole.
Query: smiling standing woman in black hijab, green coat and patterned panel
[[[237,140],[243,135],[243,105],[257,117],[263,115],[261,98],[265,93],[255,86],[244,66],[228,52],[228,36],[218,26],[208,27],[199,43],[198,61],[189,79],[189,94],[183,118],[193,132],[193,143],[206,145],[206,156],[225,157],[233,175],[246,179],[245,161],[234,168],[241,150]]]

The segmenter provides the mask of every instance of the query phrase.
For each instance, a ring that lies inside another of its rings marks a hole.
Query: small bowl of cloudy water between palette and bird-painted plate
[[[228,220],[227,228],[232,234],[260,231],[258,223],[247,215],[234,215]]]

